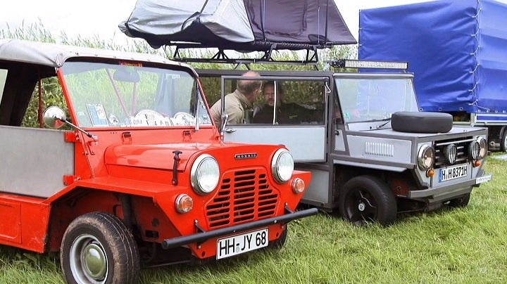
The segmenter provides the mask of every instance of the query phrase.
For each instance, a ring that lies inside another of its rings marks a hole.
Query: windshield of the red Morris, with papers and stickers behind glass
[[[192,126],[196,115],[199,124],[211,125],[196,79],[187,72],[85,62],[67,62],[61,70],[81,127]]]

